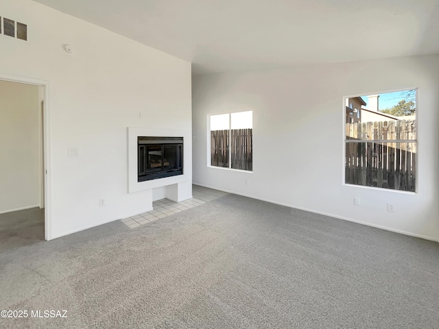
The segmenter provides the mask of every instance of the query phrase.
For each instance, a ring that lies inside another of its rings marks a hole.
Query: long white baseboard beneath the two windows
[[[195,183],[195,182],[193,182],[193,185],[203,186],[203,187],[206,187],[206,188],[213,188],[215,190],[218,189],[218,188],[213,187],[213,186],[207,186],[207,185],[199,184],[199,183]],[[342,219],[344,221],[351,221],[353,223],[370,226],[372,228],[379,228],[381,230],[386,230],[386,231],[395,232],[395,233],[399,233],[399,234],[405,234],[405,235],[408,235],[408,236],[414,236],[416,238],[425,239],[425,240],[429,240],[429,241],[435,241],[435,242],[439,243],[439,240],[434,238],[434,237],[432,237],[432,236],[425,236],[425,235],[415,234],[415,233],[407,232],[407,231],[403,231],[403,230],[396,230],[394,228],[388,228],[386,226],[380,226],[380,225],[376,225],[376,224],[372,224],[372,223],[367,223],[367,222],[364,222],[364,221],[358,221],[357,219],[352,219],[352,218],[348,218],[348,217],[342,217],[342,216],[339,216],[339,215],[334,215],[334,214],[331,214],[329,212],[322,212],[322,211],[318,211],[318,210],[312,210],[312,209],[308,209],[308,208],[302,208],[302,207],[294,206],[294,205],[291,205],[291,204],[284,204],[282,202],[276,202],[276,201],[270,200],[270,199],[263,199],[261,197],[254,197],[253,195],[246,195],[246,194],[243,194],[243,193],[237,193],[235,191],[229,191],[229,190],[224,190],[224,189],[219,190],[219,191],[224,191],[224,192],[227,192],[227,193],[233,193],[233,194],[236,194],[236,195],[241,195],[243,197],[250,197],[252,199],[257,199],[257,200],[261,200],[261,201],[264,201],[264,202],[270,202],[270,204],[278,204],[279,206],[285,206],[285,207],[294,208],[294,209],[298,209],[298,210],[303,210],[303,211],[307,211],[307,212],[313,212],[314,214],[318,214],[318,215],[329,216],[329,217],[333,217],[333,218],[337,218],[337,219]]]

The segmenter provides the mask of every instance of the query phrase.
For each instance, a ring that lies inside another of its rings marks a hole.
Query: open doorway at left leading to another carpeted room
[[[0,75],[0,251],[49,240],[48,83]]]

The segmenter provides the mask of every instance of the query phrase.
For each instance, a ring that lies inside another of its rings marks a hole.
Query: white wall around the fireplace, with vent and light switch
[[[0,36],[0,75],[50,84],[49,239],[150,209],[151,190],[128,193],[127,127],[190,130],[191,64],[34,1],[3,0],[0,12],[28,33]]]

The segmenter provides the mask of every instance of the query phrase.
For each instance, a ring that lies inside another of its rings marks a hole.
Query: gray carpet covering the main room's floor
[[[226,195],[0,253],[0,328],[439,328],[439,244]]]

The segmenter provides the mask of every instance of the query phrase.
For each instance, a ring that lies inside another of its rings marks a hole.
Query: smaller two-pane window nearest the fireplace
[[[211,166],[252,171],[252,128],[252,111],[211,115]]]

